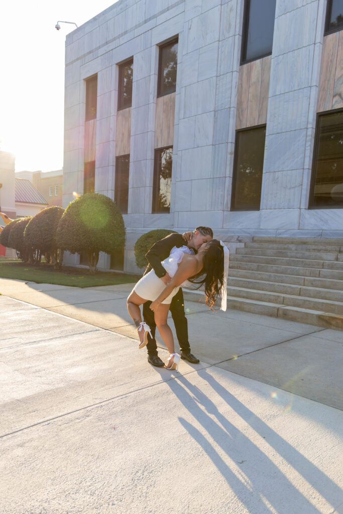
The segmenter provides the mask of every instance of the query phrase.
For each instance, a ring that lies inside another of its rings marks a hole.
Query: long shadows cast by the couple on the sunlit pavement
[[[331,504],[334,497],[337,499],[337,503],[339,503],[338,499],[340,498],[341,490],[326,474],[288,444],[274,430],[270,429],[256,414],[251,412],[242,402],[221,386],[206,370],[199,371],[198,376],[206,380],[212,389],[224,399],[227,405],[236,411],[261,437],[264,437],[267,443],[288,464],[298,471],[324,499]],[[249,512],[256,514],[270,512],[261,499],[261,496],[263,496],[278,512],[286,512],[287,505],[289,505],[290,498],[292,498],[292,504],[297,505],[298,512],[319,514],[320,511],[301,494],[268,456],[230,423],[229,419],[219,412],[213,401],[187,380],[185,376],[180,377],[178,380],[167,381],[166,383],[179,401],[183,403],[191,415],[204,427],[209,436],[213,438],[215,443],[232,461],[240,466],[242,479],[234,474],[219,453],[213,448],[212,444],[197,428],[188,423],[184,418],[179,418],[180,423],[211,458],[213,464],[224,476],[240,501],[246,505]],[[201,409],[200,405],[205,408],[206,412]],[[211,416],[214,416],[218,423]],[[237,445],[238,442],[239,445]],[[244,449],[244,452],[242,449]],[[243,459],[244,456],[248,456],[249,461],[259,463],[259,469],[249,465],[244,466],[242,455]],[[244,477],[248,479],[251,486],[247,487],[244,484],[244,481],[246,482]],[[272,484],[268,481],[268,477],[273,477]],[[251,487],[253,488],[252,490]]]

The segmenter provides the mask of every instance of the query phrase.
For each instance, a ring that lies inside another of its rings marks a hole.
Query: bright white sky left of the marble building
[[[117,0],[1,0],[0,150],[15,171],[63,166],[65,36]],[[73,28],[74,27],[74,28]]]

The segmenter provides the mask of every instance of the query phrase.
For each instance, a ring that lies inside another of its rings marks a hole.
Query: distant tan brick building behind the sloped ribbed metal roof
[[[30,180],[32,185],[45,198],[48,207],[62,207],[63,170],[56,171],[20,171],[16,178]]]

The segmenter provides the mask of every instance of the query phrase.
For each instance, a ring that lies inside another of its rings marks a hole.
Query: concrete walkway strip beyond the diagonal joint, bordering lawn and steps
[[[80,289],[0,279],[7,297],[137,340],[126,307],[132,287]],[[342,331],[233,309],[212,313],[189,301],[185,310],[191,350],[203,362],[343,410]],[[172,320],[170,325],[174,331]],[[165,348],[158,333],[157,341]]]

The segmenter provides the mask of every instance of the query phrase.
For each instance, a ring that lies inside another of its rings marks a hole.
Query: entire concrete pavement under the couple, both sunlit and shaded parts
[[[0,512],[343,512],[343,334],[187,302],[202,362],[169,372],[131,287],[0,279]]]

